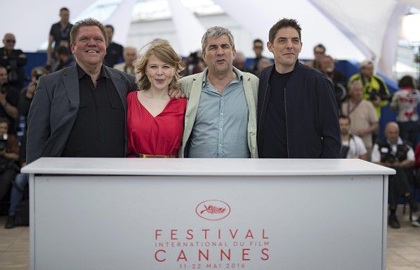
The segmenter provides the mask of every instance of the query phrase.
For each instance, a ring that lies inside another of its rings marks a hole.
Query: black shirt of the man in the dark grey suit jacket
[[[96,88],[79,65],[80,106],[63,157],[124,158],[125,113],[122,100],[104,67]]]

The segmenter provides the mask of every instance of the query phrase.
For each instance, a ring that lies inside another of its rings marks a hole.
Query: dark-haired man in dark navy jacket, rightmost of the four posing
[[[282,19],[271,27],[268,50],[275,65],[258,87],[259,158],[339,158],[339,110],[332,82],[298,62],[301,27]]]

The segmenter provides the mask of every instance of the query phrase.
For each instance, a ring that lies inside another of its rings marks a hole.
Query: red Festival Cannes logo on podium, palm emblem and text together
[[[196,217],[204,219],[202,227],[163,227],[153,232],[157,265],[168,267],[162,269],[247,269],[250,263],[255,268],[258,262],[264,267],[270,259],[269,236],[264,228],[217,226],[232,211],[223,200],[204,200],[194,208]]]

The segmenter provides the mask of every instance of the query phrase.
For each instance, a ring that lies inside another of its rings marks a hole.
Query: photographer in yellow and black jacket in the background
[[[349,84],[354,81],[362,82],[363,98],[373,103],[376,115],[378,115],[378,119],[381,119],[381,108],[388,105],[390,95],[383,79],[374,75],[374,63],[371,60],[364,60],[360,63],[360,72],[348,79]]]

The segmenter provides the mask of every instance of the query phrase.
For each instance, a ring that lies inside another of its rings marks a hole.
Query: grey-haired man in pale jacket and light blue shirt
[[[181,155],[185,158],[258,158],[258,78],[233,67],[235,43],[226,28],[207,30],[202,37],[202,51],[208,68],[180,80],[189,98]]]

